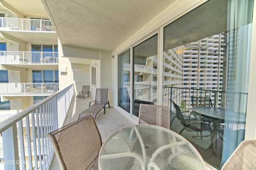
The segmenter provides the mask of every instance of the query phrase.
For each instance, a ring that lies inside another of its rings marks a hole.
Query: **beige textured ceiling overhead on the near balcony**
[[[63,45],[113,51],[175,0],[42,0]]]

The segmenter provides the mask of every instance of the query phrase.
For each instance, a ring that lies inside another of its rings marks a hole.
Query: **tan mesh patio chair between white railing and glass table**
[[[98,170],[102,139],[92,115],[88,114],[47,136],[63,170]]]

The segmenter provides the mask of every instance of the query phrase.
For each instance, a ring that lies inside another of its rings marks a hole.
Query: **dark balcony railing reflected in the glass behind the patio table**
[[[190,110],[192,106],[191,96],[194,97],[207,97],[212,101],[213,107],[233,110],[239,113],[246,114],[248,93],[246,92],[232,92],[232,91],[218,91],[208,89],[193,89],[193,88],[180,88],[180,87],[166,87],[163,86],[164,100],[163,105],[170,106],[170,99],[178,105],[182,105],[184,109]],[[235,101],[230,102],[230,98],[236,98]],[[241,103],[243,103],[241,105]]]

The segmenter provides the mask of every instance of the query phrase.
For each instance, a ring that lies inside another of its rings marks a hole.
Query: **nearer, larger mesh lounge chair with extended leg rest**
[[[91,106],[92,102],[94,102],[94,104]],[[104,114],[105,114],[106,105],[108,104],[108,107],[110,107],[109,101],[108,101],[108,89],[107,88],[97,88],[95,100],[92,102],[89,103],[89,107],[87,109],[85,109],[82,113],[80,113],[78,115],[78,119],[80,119],[88,114],[92,114],[94,116],[94,119],[96,119],[96,115],[103,108],[104,108]]]

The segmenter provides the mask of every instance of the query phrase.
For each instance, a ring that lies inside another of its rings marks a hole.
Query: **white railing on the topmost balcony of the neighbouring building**
[[[50,20],[4,18],[0,17],[0,30],[55,32]]]

